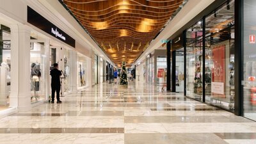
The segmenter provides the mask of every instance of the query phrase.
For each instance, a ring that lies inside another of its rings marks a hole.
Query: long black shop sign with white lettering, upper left
[[[67,35],[64,31],[62,31],[60,28],[49,22],[49,20],[45,19],[42,15],[35,12],[32,8],[28,6],[28,17],[27,20],[30,24],[33,24],[33,26],[36,26],[39,29],[42,29],[49,35],[52,35],[62,42],[65,42],[66,44],[76,47],[76,40],[72,38],[71,36]]]

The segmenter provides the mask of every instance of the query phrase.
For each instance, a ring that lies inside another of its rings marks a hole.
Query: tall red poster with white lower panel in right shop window
[[[225,45],[218,45],[212,49],[212,95],[225,97]]]

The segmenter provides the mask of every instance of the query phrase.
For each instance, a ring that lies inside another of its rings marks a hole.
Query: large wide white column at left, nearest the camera
[[[10,107],[19,111],[31,109],[30,92],[30,33],[31,28],[24,25],[12,25],[12,70]]]

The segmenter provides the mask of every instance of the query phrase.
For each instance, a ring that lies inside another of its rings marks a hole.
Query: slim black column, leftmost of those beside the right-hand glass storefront
[[[167,42],[166,45],[166,49],[167,49],[167,77],[166,77],[166,91],[170,91],[171,90],[171,42]]]

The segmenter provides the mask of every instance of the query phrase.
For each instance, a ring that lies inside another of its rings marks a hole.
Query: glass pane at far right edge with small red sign
[[[244,116],[256,120],[256,1],[244,0],[243,90]]]

